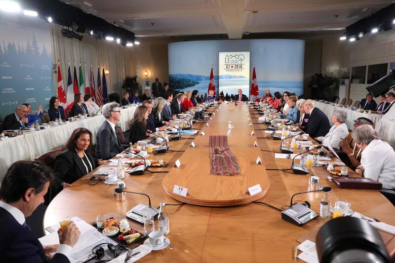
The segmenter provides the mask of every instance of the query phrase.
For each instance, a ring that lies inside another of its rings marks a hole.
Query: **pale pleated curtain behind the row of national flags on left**
[[[79,80],[79,64],[82,65],[82,75],[85,77],[90,74],[90,66],[94,75],[95,86],[97,87],[97,67],[100,65],[100,76],[103,78],[103,67],[110,72],[106,75],[107,94],[113,92],[122,94],[122,83],[125,75],[129,75],[125,69],[130,68],[132,62],[132,50],[114,41],[96,39],[92,36],[83,34],[83,40],[76,38],[65,38],[61,33],[62,26],[51,24],[50,35],[52,45],[52,61],[54,64],[60,62],[60,69],[63,77],[65,89],[67,89],[68,66],[70,63],[71,76],[74,78],[73,70],[76,65]],[[86,64],[86,67],[84,66]],[[53,75],[55,94],[58,94],[57,74]],[[84,83],[89,79],[84,79]],[[80,80],[79,80],[80,83]],[[65,90],[66,91],[66,90]]]

